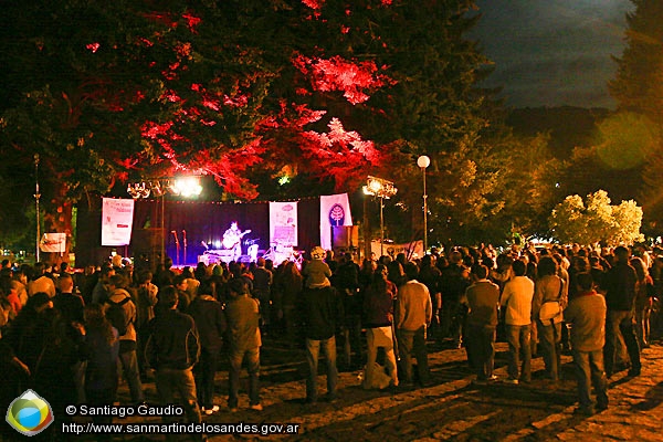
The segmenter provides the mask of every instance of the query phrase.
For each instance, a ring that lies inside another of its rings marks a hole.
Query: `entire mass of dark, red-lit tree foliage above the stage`
[[[285,169],[352,191],[368,173],[412,180],[425,152],[439,177],[440,199],[429,201],[444,204],[444,225],[481,221],[492,211],[492,171],[475,87],[485,60],[463,40],[473,6],[12,6],[6,35],[22,38],[0,39],[1,80],[15,85],[0,109],[2,146],[15,164],[40,154],[53,213],[117,182],[180,172],[211,175],[244,199],[269,196]],[[401,190],[408,206],[420,197]],[[456,203],[470,194],[475,203]],[[48,229],[66,230],[56,224]]]

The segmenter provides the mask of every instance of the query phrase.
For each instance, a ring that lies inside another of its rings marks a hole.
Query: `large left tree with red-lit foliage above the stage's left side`
[[[272,74],[224,22],[210,25],[213,4],[202,20],[150,2],[14,3],[1,40],[3,83],[14,86],[2,175],[32,175],[24,165],[40,155],[46,230],[69,232],[72,203],[129,178],[203,171],[255,196],[243,172],[259,161],[256,109]]]

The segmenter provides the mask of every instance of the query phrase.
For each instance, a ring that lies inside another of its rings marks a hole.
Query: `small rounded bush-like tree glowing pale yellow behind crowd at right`
[[[635,201],[611,206],[608,193],[599,190],[587,196],[567,197],[550,214],[550,230],[560,242],[582,245],[633,244],[644,240],[640,228],[642,208]]]

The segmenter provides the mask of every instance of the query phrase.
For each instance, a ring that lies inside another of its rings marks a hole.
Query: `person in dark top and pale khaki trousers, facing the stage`
[[[393,351],[393,302],[397,287],[387,278],[388,271],[382,264],[373,272],[373,281],[364,297],[364,316],[367,343],[366,378],[364,387],[375,385],[373,371],[378,348],[385,349],[385,366],[391,385],[398,387],[398,370]]]

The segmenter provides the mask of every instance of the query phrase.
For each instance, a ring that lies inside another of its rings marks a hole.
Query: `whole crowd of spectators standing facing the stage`
[[[608,407],[607,378],[640,375],[640,351],[661,333],[651,315],[662,290],[662,251],[624,246],[433,248],[421,259],[401,253],[361,265],[350,252],[315,248],[302,270],[263,257],[181,270],[167,259],[154,272],[122,259],[83,272],[3,262],[0,402],[31,388],[56,412],[112,404],[122,376],[131,403],[180,403],[199,422],[221,409],[214,377],[224,362],[228,410],[238,410],[242,368],[249,407],[262,410],[263,338],[304,349],[308,403],[318,400],[320,351],[325,400],[334,401],[338,364],[362,370],[367,389],[429,385],[429,345],[464,347],[475,382],[490,385],[503,339],[509,383],[533,382],[532,358],[540,355],[545,379],[534,381],[555,386],[560,355],[570,351],[578,411],[592,414]],[[146,398],[152,380],[158,398]]]

